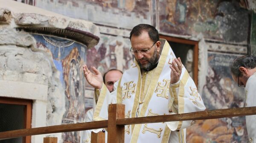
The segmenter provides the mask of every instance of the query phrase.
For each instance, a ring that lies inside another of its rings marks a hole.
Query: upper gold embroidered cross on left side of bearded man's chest
[[[122,100],[131,98],[131,94],[135,93],[136,84],[132,84],[133,81],[125,82],[122,89]]]

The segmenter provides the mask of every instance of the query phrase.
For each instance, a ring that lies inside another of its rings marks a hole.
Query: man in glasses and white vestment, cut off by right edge
[[[256,106],[256,56],[241,56],[233,62],[231,73],[239,87],[245,87],[245,107]],[[249,143],[256,143],[256,115],[245,117]]]

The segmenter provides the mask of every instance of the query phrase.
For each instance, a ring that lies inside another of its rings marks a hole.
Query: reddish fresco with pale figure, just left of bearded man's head
[[[113,68],[124,71],[133,61],[130,48],[129,38],[101,34],[99,44],[87,50],[87,66],[97,67],[102,75]]]

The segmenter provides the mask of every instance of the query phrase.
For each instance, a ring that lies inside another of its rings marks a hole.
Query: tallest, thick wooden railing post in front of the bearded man
[[[125,105],[108,105],[108,143],[125,143],[125,126],[116,125],[120,118],[125,118]]]

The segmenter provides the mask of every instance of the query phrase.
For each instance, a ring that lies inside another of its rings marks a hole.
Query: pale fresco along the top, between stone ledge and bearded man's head
[[[18,0],[28,3],[28,0]],[[133,28],[151,23],[151,0],[29,0],[34,6],[97,24]]]

